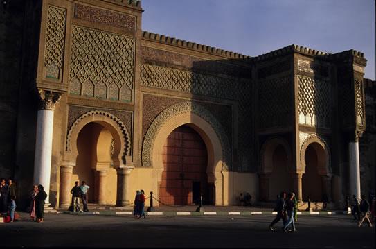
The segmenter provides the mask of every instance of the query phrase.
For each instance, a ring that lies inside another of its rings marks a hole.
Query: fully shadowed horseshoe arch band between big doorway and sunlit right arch
[[[289,143],[283,137],[271,137],[267,139],[261,146],[261,164],[259,168],[259,173],[270,174],[273,171],[273,153],[278,146],[283,146],[285,152],[287,153],[287,165],[291,165],[292,162],[292,150]],[[289,168],[292,171],[291,166]]]

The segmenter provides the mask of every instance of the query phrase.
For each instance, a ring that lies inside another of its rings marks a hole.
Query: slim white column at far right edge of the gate
[[[360,164],[359,164],[359,139],[348,144],[349,168],[350,168],[350,196],[355,194],[360,199]]]

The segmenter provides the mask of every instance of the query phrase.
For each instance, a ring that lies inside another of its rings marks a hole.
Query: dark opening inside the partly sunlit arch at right
[[[323,199],[323,184],[320,169],[325,168],[325,151],[317,143],[307,146],[305,151],[305,173],[302,179],[303,200],[307,201],[310,196],[311,201],[321,202]]]

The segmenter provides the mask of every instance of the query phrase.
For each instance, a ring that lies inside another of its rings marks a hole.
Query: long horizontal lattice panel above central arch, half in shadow
[[[217,98],[235,98],[235,85],[239,78],[218,77],[198,74],[192,71],[141,64],[141,85],[161,89],[173,89],[181,92],[213,96]]]

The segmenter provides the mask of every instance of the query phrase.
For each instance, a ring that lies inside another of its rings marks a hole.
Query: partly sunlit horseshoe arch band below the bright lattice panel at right
[[[319,175],[327,175],[330,176],[332,173],[331,165],[330,165],[330,150],[329,146],[325,140],[317,135],[312,135],[307,137],[301,146],[300,151],[300,165],[297,165],[297,172],[305,173],[305,152],[307,151],[308,146],[312,145],[314,150],[318,155],[318,171]],[[320,156],[321,155],[321,156]],[[323,156],[325,157],[323,157]]]

